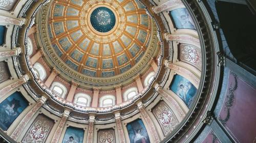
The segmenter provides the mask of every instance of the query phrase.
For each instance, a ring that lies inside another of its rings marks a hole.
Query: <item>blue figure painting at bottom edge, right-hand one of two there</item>
[[[131,143],[150,143],[150,138],[141,119],[127,124],[127,130]]]

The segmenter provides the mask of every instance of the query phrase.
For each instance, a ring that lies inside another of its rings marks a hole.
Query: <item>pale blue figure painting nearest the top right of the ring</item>
[[[186,8],[179,8],[170,11],[170,15],[172,16],[175,26],[178,29],[193,29],[195,30],[195,24],[191,19]]]

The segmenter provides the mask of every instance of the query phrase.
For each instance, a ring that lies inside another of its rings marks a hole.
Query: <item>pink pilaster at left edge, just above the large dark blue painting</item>
[[[30,79],[30,77],[27,74],[25,74],[22,77],[20,77],[19,79],[14,80],[12,83],[6,85],[6,87],[4,87],[3,89],[0,90],[0,98],[5,96],[10,91],[16,89],[20,85],[27,83],[27,81],[29,79]]]

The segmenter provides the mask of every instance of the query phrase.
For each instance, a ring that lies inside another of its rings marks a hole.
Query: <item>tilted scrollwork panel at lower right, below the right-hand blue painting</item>
[[[164,135],[167,135],[169,132],[173,131],[179,124],[179,121],[174,115],[173,111],[163,101],[158,103],[158,105],[153,109],[153,114],[160,124]]]

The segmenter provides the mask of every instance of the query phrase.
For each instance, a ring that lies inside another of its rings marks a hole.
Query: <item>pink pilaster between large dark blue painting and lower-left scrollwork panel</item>
[[[31,110],[28,111],[26,116],[19,122],[18,126],[15,128],[13,133],[11,134],[11,138],[16,140],[21,132],[24,131],[24,128],[27,126],[28,122],[32,119],[33,115],[38,111],[38,109],[45,104],[47,98],[42,96],[32,107]]]

